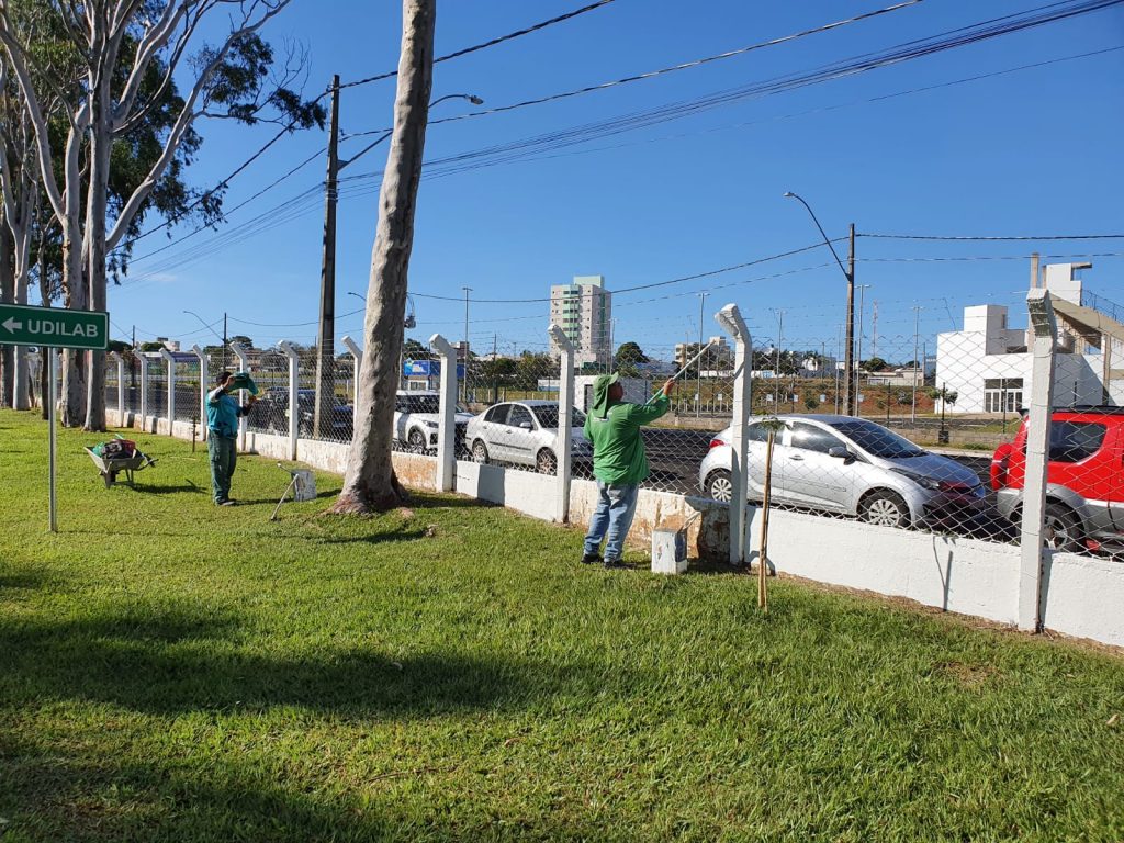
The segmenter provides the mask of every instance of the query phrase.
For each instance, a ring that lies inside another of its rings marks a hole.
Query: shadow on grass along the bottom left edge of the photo
[[[268,759],[234,753],[211,751],[191,764],[132,753],[99,754],[27,734],[6,736],[0,729],[0,755],[11,762],[12,773],[12,787],[0,794],[4,827],[26,835],[13,840],[307,843],[606,837],[604,816],[562,819],[549,808],[537,816],[526,808],[505,816],[502,805],[489,812],[450,814],[436,805],[427,810],[417,791],[472,773],[452,761],[428,767],[424,760],[402,758],[365,787],[352,786],[351,794],[339,794],[338,782],[328,778],[332,772],[317,771],[317,765],[300,778],[278,780]],[[339,762],[329,770],[345,773],[346,767]],[[390,791],[402,781],[413,782],[413,798],[404,800]],[[355,791],[366,791],[362,803]]]

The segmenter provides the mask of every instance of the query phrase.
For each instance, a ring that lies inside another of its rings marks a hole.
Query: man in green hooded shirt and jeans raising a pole
[[[620,375],[602,374],[593,381],[593,405],[586,416],[584,435],[593,443],[593,477],[597,479],[597,509],[586,534],[584,564],[604,562],[606,568],[624,568],[620,554],[636,514],[641,481],[647,478],[647,456],[640,428],[655,422],[670,408],[668,396],[674,379],[644,405],[624,400]],[[605,559],[601,559],[601,542]]]

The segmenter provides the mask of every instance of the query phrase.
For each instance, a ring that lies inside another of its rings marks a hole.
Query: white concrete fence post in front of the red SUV
[[[1053,370],[1058,323],[1044,288],[1026,294],[1034,344],[1031,348],[1031,404],[1026,420],[1026,475],[1023,483],[1023,527],[1019,538],[1018,628],[1037,632],[1042,623],[1042,564],[1046,507],[1050,422],[1053,411]]]

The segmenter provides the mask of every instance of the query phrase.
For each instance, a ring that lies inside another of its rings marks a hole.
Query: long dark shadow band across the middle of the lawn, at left
[[[293,706],[404,718],[626,694],[636,682],[619,668],[478,656],[455,642],[405,655],[370,645],[280,651],[260,631],[247,634],[230,614],[187,605],[78,620],[0,617],[0,676],[7,680],[0,706],[81,699],[147,714]]]

